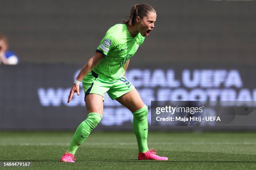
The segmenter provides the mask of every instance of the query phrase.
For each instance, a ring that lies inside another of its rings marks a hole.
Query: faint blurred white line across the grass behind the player
[[[157,142],[149,145],[256,145],[256,142]],[[0,143],[0,146],[68,146],[69,143]],[[85,143],[89,145],[137,145],[137,143]]]

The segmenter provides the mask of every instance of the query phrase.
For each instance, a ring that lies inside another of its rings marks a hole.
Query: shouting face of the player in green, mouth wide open
[[[156,22],[156,13],[150,12],[147,16],[145,16],[141,22],[138,24],[138,30],[140,31],[143,37],[149,35],[149,32],[153,30]]]

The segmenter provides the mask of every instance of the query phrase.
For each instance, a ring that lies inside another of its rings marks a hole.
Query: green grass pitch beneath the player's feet
[[[61,163],[74,132],[0,132],[0,169],[246,170],[256,169],[256,133],[149,133],[149,148],[168,161],[137,160],[133,133],[92,133],[76,163]],[[3,167],[27,161],[31,167]]]

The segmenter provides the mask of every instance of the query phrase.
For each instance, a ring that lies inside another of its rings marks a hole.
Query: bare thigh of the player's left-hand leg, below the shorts
[[[88,113],[96,112],[103,115],[103,97],[94,93],[85,97],[85,105]]]

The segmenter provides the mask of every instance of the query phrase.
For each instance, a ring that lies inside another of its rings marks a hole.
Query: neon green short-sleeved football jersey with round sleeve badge
[[[103,54],[104,59],[92,70],[105,80],[120,79],[125,73],[125,62],[136,53],[144,39],[141,33],[132,37],[125,24],[114,25],[106,32],[96,50]]]

